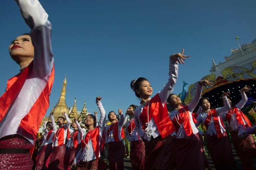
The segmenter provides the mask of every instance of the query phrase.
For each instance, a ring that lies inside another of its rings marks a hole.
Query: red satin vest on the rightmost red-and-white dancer
[[[244,113],[240,110],[238,110],[238,108],[236,106],[233,106],[228,113],[226,114],[226,119],[230,125],[230,119],[231,119],[231,115],[236,114],[236,120],[238,124],[243,125],[244,128],[246,128],[246,125],[244,125],[244,121],[247,123],[247,127],[251,127],[251,122],[249,121],[249,119],[244,115]],[[243,118],[243,119],[242,119]]]

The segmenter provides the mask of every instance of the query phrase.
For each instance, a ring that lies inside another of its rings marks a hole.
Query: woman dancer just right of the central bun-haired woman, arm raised
[[[176,129],[176,169],[205,169],[205,156],[200,140],[199,130],[195,126],[195,119],[192,112],[202,94],[203,86],[212,85],[208,80],[200,80],[197,83],[195,96],[191,102],[181,106],[180,98],[175,94],[170,94],[167,101],[174,108],[169,116]]]

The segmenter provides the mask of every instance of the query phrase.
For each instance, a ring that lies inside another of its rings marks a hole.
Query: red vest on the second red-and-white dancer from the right
[[[211,112],[210,111],[208,112],[208,115],[207,115],[207,117],[205,119],[205,122],[204,122],[206,130],[208,130],[208,127],[209,127],[208,124],[210,124],[211,123],[210,121],[212,120],[211,113],[212,113],[212,117],[213,117],[214,127],[215,127],[216,132],[217,132],[217,136],[218,136],[218,138],[223,137],[223,134],[222,134],[221,129],[220,129],[220,123],[219,123],[219,118],[218,118],[219,116],[217,115],[216,109],[211,109]],[[224,127],[221,118],[220,118],[220,122],[221,122],[222,127]],[[223,132],[223,133],[226,133],[226,132]]]

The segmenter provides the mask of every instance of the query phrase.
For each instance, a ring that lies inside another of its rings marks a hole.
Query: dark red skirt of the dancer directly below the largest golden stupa
[[[66,152],[65,144],[53,147],[51,158],[48,165],[48,170],[63,170],[64,155]]]

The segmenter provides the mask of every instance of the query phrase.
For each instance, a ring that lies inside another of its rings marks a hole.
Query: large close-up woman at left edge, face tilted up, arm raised
[[[8,80],[0,97],[0,169],[22,170],[33,166],[29,150],[49,107],[54,61],[47,13],[37,0],[16,2],[32,31],[9,46],[20,73]]]

